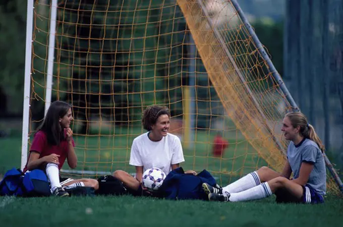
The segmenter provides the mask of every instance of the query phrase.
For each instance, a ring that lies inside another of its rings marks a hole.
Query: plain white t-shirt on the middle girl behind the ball
[[[137,136],[131,147],[130,165],[142,166],[143,172],[160,168],[166,175],[171,165],[185,162],[181,141],[178,136],[167,133],[157,142],[151,141],[148,132]]]

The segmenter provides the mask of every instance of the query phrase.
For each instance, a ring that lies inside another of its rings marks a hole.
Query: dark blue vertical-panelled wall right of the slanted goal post
[[[316,128],[326,154],[337,158],[331,162],[339,169],[343,169],[342,13],[342,1],[286,1],[285,83]]]

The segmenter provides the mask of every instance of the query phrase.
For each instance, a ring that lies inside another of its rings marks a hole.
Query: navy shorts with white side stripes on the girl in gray
[[[306,185],[303,187],[303,196],[301,199],[296,198],[292,195],[289,191],[285,189],[278,189],[275,192],[276,195],[276,202],[277,203],[323,203],[324,198],[321,196],[316,190],[314,190],[311,186]]]

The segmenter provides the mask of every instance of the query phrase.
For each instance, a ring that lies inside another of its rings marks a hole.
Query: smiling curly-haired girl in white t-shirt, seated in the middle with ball
[[[143,112],[142,124],[148,132],[137,136],[131,146],[130,165],[136,167],[136,177],[123,170],[113,173],[124,185],[141,194],[142,176],[145,170],[160,168],[166,175],[185,162],[181,141],[178,136],[167,133],[169,111],[162,106],[149,106]],[[196,174],[194,171],[186,171]]]

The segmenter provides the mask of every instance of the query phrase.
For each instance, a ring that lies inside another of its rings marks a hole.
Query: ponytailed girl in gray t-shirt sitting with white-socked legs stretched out
[[[290,140],[282,173],[262,167],[223,188],[204,183],[210,201],[247,201],[272,194],[276,202],[321,203],[326,193],[324,145],[304,114],[285,115],[281,131]],[[293,178],[290,179],[293,173]]]

